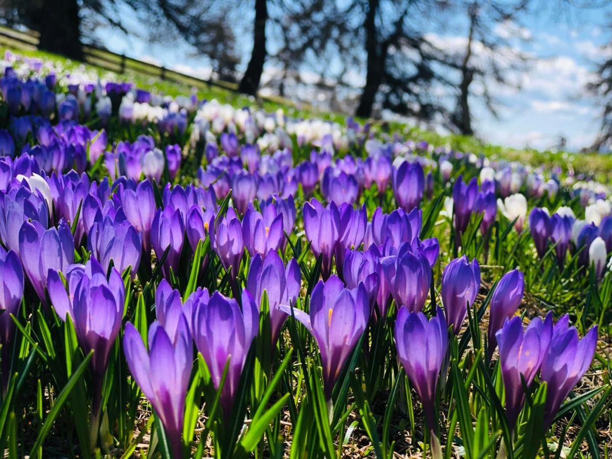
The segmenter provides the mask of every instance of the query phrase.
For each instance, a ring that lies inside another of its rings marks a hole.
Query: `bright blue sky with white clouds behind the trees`
[[[141,30],[141,24],[129,10],[121,12],[128,29]],[[474,127],[486,141],[512,147],[531,146],[547,149],[567,139],[567,148],[577,150],[591,143],[599,129],[597,100],[583,94],[584,84],[593,78],[596,63],[605,58],[602,45],[612,39],[612,7],[572,10],[554,17],[553,12],[531,13],[521,20],[521,35],[527,40],[513,40],[512,46],[534,58],[528,72],[512,75],[520,88],[494,87],[501,103],[499,119],[476,105]],[[496,33],[505,34],[516,24],[501,24]],[[250,41],[250,30],[244,37]],[[195,58],[187,45],[150,45],[135,35],[99,29],[95,34],[110,50],[134,58],[160,63],[195,75],[210,73],[204,58]],[[441,45],[461,47],[465,34],[460,28],[445,33],[431,32]],[[243,68],[250,44],[245,45]],[[272,72],[268,65],[267,72]],[[356,78],[359,81],[359,78]]]

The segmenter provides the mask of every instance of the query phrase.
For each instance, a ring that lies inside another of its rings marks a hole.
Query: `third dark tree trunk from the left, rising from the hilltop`
[[[365,52],[367,53],[367,69],[365,86],[359,98],[356,116],[368,118],[372,113],[372,106],[376,99],[376,92],[383,83],[384,54],[381,53],[378,37],[376,36],[376,12],[379,0],[368,1],[368,12],[364,21]]]

